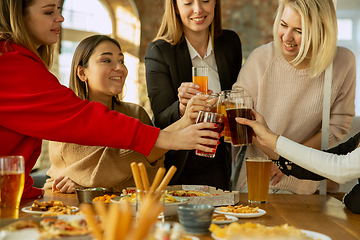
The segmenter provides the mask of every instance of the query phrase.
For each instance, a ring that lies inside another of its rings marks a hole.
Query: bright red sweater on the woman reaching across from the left
[[[0,41],[0,156],[25,158],[23,198],[41,195],[29,176],[42,139],[132,149],[148,155],[159,129],[62,86],[31,51]]]

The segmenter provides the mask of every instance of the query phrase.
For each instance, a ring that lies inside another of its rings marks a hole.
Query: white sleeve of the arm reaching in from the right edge
[[[340,184],[360,177],[360,148],[347,155],[336,155],[305,147],[280,136],[276,151],[295,164]]]

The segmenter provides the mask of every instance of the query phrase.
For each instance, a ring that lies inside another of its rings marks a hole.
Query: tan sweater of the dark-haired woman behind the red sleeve
[[[152,125],[146,111],[137,104],[114,102],[114,109]],[[151,182],[157,170],[164,167],[165,160],[162,156],[150,164],[144,155],[133,150],[61,142],[49,143],[49,155],[52,165],[47,175],[51,178],[47,179],[45,189],[51,188],[54,179],[64,174],[83,187],[108,187],[121,192],[123,188],[135,187],[132,162],[144,163]]]

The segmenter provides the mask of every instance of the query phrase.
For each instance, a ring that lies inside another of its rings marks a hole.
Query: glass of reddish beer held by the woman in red
[[[212,130],[214,132],[221,133],[221,131],[224,129],[224,115],[222,115],[220,113],[199,111],[199,115],[196,119],[196,123],[202,123],[202,122],[209,122],[209,123],[217,124],[216,128],[207,129],[207,130]],[[206,146],[210,147],[210,148],[214,148],[215,150],[217,148],[217,145],[206,145]],[[214,158],[215,153],[216,153],[216,151],[215,152],[203,152],[200,150],[195,151],[196,155],[203,156],[203,157],[209,157],[209,158]]]

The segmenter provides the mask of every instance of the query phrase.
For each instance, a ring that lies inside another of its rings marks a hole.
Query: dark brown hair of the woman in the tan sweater
[[[113,42],[121,51],[119,42],[107,35],[93,35],[87,37],[82,40],[75,49],[71,63],[69,88],[71,88],[75,92],[75,94],[83,100],[87,98],[86,83],[81,81],[81,79],[77,75],[77,68],[78,66],[82,66],[83,68],[88,67],[89,59],[93,54],[94,49],[103,41]],[[114,98],[117,102],[120,101],[118,95],[115,95]]]

